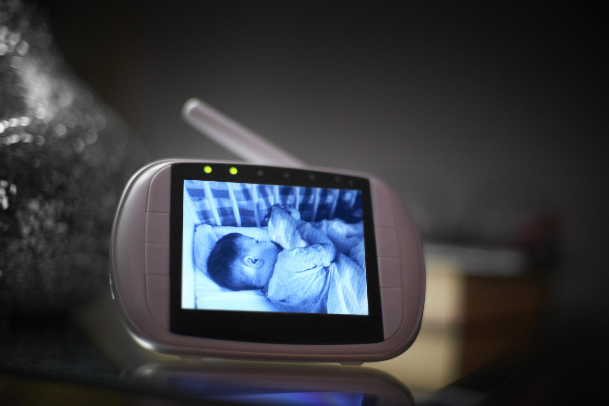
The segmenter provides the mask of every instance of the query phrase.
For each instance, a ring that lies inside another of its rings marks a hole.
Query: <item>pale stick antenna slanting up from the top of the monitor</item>
[[[248,130],[199,99],[184,103],[182,116],[203,135],[239,156],[247,163],[301,167],[305,163],[272,142]]]

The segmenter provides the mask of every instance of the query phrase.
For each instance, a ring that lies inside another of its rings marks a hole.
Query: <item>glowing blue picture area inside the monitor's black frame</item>
[[[181,308],[368,315],[362,191],[183,181]]]

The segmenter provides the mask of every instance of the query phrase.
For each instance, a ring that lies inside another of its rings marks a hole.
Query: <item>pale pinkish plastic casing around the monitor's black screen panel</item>
[[[216,331],[215,338],[171,332],[170,292],[175,290],[170,291],[170,274],[180,271],[170,267],[172,166],[214,162],[220,163],[161,159],[144,166],[125,187],[111,236],[110,279],[116,303],[136,341],[153,351],[184,357],[341,363],[390,359],[412,345],[423,314],[425,271],[418,233],[402,201],[385,183],[365,173],[306,166],[297,169],[360,177],[370,183],[376,253],[375,257],[367,254],[366,261],[376,261],[378,267],[382,339],[368,343],[277,343],[272,339],[222,339],[221,331]]]

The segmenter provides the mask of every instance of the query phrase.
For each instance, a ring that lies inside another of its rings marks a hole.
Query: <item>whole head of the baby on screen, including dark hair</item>
[[[228,289],[260,289],[266,285],[279,251],[272,241],[230,233],[209,253],[207,271],[211,279]]]

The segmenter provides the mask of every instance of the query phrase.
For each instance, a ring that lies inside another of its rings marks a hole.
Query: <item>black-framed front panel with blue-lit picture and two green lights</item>
[[[170,331],[294,344],[382,341],[366,178],[174,164],[170,222]]]

